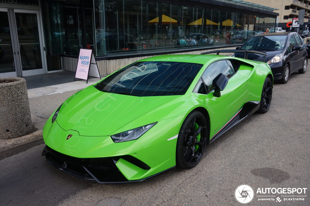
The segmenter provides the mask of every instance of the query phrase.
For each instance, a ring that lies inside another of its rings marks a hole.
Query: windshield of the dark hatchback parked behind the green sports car
[[[254,36],[240,49],[252,50],[282,50],[285,47],[287,36]]]

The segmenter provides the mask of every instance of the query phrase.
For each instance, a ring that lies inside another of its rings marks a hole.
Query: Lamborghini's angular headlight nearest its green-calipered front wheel
[[[126,142],[141,137],[146,131],[151,129],[157,122],[148,124],[142,127],[138,127],[132,130],[124,131],[115,135],[112,135],[111,138],[113,142]]]

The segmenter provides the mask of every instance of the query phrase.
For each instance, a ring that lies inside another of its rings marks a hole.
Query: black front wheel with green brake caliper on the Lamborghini
[[[179,168],[189,169],[201,160],[206,147],[207,122],[199,111],[185,118],[176,144],[175,162]]]

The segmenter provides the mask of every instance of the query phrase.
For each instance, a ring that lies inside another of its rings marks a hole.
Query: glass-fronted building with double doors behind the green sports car
[[[80,48],[93,49],[100,75],[149,56],[232,48],[274,27],[275,10],[241,0],[1,0],[0,77],[75,71]]]

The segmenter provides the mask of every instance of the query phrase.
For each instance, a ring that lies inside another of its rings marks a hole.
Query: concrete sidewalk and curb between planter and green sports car
[[[74,75],[71,72],[57,72],[25,77],[33,131],[12,139],[0,139],[0,152],[42,139],[44,124],[59,105],[75,92],[100,80],[91,77],[86,84],[86,80],[73,81]]]

